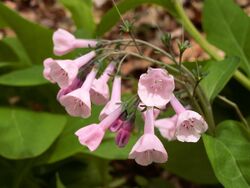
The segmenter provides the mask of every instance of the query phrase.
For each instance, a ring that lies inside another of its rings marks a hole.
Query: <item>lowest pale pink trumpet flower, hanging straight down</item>
[[[133,146],[129,158],[135,159],[138,164],[143,166],[152,162],[164,163],[168,159],[163,144],[154,134],[154,114],[151,107],[146,112],[144,135]]]

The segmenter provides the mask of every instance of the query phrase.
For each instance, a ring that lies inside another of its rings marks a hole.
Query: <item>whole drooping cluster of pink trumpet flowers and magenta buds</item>
[[[91,116],[91,103],[104,105],[99,123],[87,125],[75,135],[79,142],[90,151],[98,148],[106,131],[116,133],[115,142],[124,147],[134,129],[136,111],[142,113],[144,133],[129,153],[130,159],[140,165],[152,162],[164,163],[168,154],[155,135],[155,127],[168,140],[197,142],[208,126],[201,115],[186,110],[174,95],[174,77],[163,68],[148,68],[140,76],[138,91],[135,97],[123,102],[121,100],[121,76],[115,61],[111,61],[101,76],[99,71],[98,45],[95,40],[76,39],[69,32],[59,29],[53,35],[55,55],[64,55],[75,48],[89,48],[93,51],[75,60],[44,61],[44,77],[61,88],[57,100],[71,116],[88,118]],[[110,96],[108,82],[113,79]],[[176,115],[170,118],[157,119],[167,104],[172,106]]]

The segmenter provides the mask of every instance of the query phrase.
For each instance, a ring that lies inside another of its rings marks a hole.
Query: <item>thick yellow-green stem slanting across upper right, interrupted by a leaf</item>
[[[217,53],[217,50],[214,46],[212,46],[195,28],[193,23],[190,21],[188,16],[186,15],[182,4],[179,0],[174,1],[175,9],[179,16],[179,21],[182,23],[183,27],[187,30],[187,32],[195,39],[195,41],[200,44],[200,46],[216,61],[223,60]],[[234,78],[239,81],[245,88],[250,90],[250,79],[247,78],[243,73],[239,70],[236,70],[234,73]]]

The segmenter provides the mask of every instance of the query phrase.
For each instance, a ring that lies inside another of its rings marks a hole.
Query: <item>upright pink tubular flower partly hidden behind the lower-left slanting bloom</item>
[[[121,77],[115,76],[110,101],[102,109],[99,119],[102,120],[121,106]]]

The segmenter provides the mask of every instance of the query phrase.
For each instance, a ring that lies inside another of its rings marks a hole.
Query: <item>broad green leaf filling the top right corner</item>
[[[250,77],[250,18],[233,0],[206,0],[203,27],[208,40],[241,58],[241,68]]]

